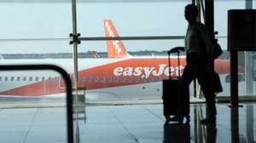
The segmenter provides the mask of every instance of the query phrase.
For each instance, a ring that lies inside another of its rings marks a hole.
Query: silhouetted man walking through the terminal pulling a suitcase
[[[207,118],[202,119],[201,123],[215,123],[216,106],[215,94],[212,92],[211,77],[213,72],[213,47],[207,32],[207,27],[196,21],[198,9],[194,4],[185,7],[185,19],[189,22],[185,37],[185,49],[187,65],[184,68],[183,76],[179,82],[177,116],[170,121],[183,123],[189,117],[189,84],[197,78],[201,84],[201,89],[207,100]]]

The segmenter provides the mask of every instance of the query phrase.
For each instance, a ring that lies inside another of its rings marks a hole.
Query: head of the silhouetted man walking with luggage
[[[195,22],[197,15],[198,9],[194,4],[188,4],[185,7],[185,19],[188,20],[189,23]]]

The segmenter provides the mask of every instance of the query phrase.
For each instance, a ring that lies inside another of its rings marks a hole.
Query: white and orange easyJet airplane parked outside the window
[[[119,37],[112,20],[103,20],[106,37]],[[79,87],[90,99],[160,99],[162,80],[169,77],[167,56],[132,57],[121,40],[107,41],[108,58],[79,59]],[[177,55],[171,55],[171,76],[177,77]],[[72,59],[1,60],[1,65],[54,64],[73,77]],[[181,74],[186,64],[180,57]],[[218,74],[230,73],[229,60],[215,60]],[[243,70],[240,69],[240,72]],[[65,92],[63,80],[55,72],[1,72],[0,96],[40,97]]]

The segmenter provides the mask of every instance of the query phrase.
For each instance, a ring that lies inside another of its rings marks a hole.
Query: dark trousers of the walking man
[[[178,88],[178,106],[177,116],[184,117],[189,115],[189,84],[194,78],[197,78],[201,85],[201,90],[207,101],[207,110],[209,115],[215,116],[215,94],[212,92],[212,73],[213,62],[207,62],[206,59],[198,58],[194,54],[187,55],[187,65],[184,68],[183,75],[179,82]]]

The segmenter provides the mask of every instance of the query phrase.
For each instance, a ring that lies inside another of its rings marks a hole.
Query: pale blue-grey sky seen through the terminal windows
[[[103,20],[113,20],[119,36],[184,36],[187,22],[183,8],[190,0],[158,3],[78,3],[77,23],[81,37],[104,37]],[[215,29],[227,33],[227,9],[244,9],[245,2],[215,2]],[[256,0],[253,0],[256,8]],[[0,54],[72,52],[71,3],[0,3]],[[19,40],[22,39],[22,40]],[[128,51],[168,50],[183,40],[124,41]],[[219,39],[226,49],[226,38]],[[106,52],[106,42],[82,42],[79,52]]]

